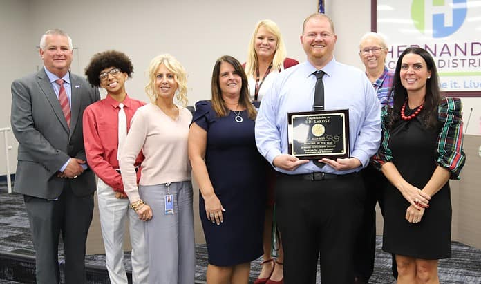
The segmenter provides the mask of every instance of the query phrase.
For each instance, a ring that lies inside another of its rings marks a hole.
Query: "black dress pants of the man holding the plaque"
[[[280,174],[275,194],[284,283],[316,283],[319,259],[323,284],[352,284],[352,256],[366,198],[361,175],[310,180],[310,175]]]

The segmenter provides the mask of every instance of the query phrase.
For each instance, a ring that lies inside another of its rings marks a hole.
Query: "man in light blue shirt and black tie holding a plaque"
[[[256,120],[258,150],[279,172],[287,284],[315,283],[319,257],[323,284],[354,279],[366,198],[358,172],[379,147],[381,108],[366,75],[334,59],[336,40],[329,17],[307,17],[301,44],[308,60],[279,74]]]

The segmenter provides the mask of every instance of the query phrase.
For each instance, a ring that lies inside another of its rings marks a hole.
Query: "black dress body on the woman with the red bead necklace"
[[[408,115],[408,110],[406,110]],[[440,129],[426,129],[419,116],[400,122],[390,131],[388,149],[401,176],[423,189],[437,167],[437,136]],[[383,193],[383,249],[392,254],[423,259],[451,256],[451,193],[444,184],[429,202],[419,223],[406,220],[410,203],[388,183]]]

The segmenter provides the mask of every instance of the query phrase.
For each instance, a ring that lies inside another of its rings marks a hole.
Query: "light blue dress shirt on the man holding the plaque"
[[[325,110],[349,110],[350,157],[362,166],[336,171],[329,165],[322,168],[313,162],[302,164],[295,171],[276,171],[287,174],[312,172],[346,174],[366,167],[377,152],[381,140],[381,106],[366,74],[352,66],[332,59],[322,70]],[[258,151],[272,164],[276,156],[287,152],[287,112],[312,111],[317,71],[309,61],[284,70],[267,91],[256,119]]]

